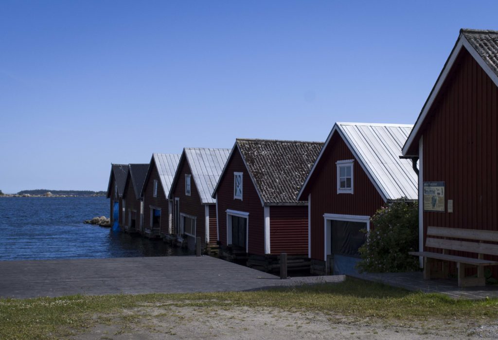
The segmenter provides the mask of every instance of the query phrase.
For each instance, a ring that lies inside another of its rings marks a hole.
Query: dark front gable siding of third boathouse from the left
[[[160,233],[168,233],[168,200],[164,195],[161,180],[154,161],[150,162],[151,170],[143,190],[143,229],[150,229],[150,206],[161,209]],[[157,197],[153,197],[154,180],[157,180]]]

